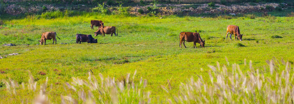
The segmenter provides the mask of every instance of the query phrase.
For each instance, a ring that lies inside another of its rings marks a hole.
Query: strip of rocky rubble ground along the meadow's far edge
[[[201,14],[201,13],[232,13],[232,14],[244,14],[248,12],[258,12],[258,11],[270,11],[274,10],[277,6],[280,6],[282,9],[287,9],[290,5],[282,3],[242,3],[232,4],[232,5],[222,5],[222,4],[215,4],[215,6],[211,7],[208,4],[157,4],[157,5],[146,5],[146,6],[131,6],[129,12],[135,15],[146,15],[150,13],[147,8],[148,7],[156,7],[157,15],[171,15],[171,14],[186,14],[186,15],[193,15],[193,14]],[[268,6],[268,7],[267,7]],[[27,5],[21,6],[16,4],[10,4],[6,6],[6,13],[11,15],[17,14],[24,14],[24,13],[36,13],[44,11],[46,7],[46,11],[53,11],[53,10],[61,10],[61,9],[70,9],[70,10],[87,10],[90,11],[94,7],[86,6],[86,5],[52,5],[52,4],[45,4],[45,5]],[[116,8],[116,7],[113,7]],[[143,9],[143,13],[140,14],[138,12],[139,9]]]

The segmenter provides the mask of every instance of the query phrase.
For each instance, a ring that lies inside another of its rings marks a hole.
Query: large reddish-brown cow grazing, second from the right
[[[199,43],[200,46],[204,48],[205,40],[203,41],[201,39],[199,33],[197,33],[197,32],[181,32],[180,33],[180,47],[181,48],[182,48],[182,42],[183,42],[185,48],[187,48],[185,45],[185,41],[194,42],[194,44],[193,44],[194,48],[197,48],[196,42]]]

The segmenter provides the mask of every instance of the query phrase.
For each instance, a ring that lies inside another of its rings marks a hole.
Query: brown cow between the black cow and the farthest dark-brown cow
[[[114,26],[100,26],[99,28],[98,28],[98,30],[96,31],[96,32],[94,32],[95,33],[95,37],[98,35],[98,34],[100,34],[100,35],[102,35],[103,34],[103,36],[105,36],[105,34],[111,34],[111,37],[112,37],[112,34],[114,33],[114,35],[115,36],[117,36],[118,35],[118,33],[117,33],[117,27],[114,27]],[[116,31],[116,33],[115,33],[115,31]]]

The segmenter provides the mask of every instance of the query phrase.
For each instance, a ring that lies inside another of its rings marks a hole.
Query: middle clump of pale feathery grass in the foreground
[[[134,73],[135,76],[136,72]],[[72,77],[73,82],[70,85],[68,82],[65,83],[69,89],[73,89],[74,92],[77,92],[78,99],[83,103],[93,104],[93,103],[135,103],[140,102],[142,104],[151,103],[150,94],[144,89],[147,87],[147,80],[143,82],[143,89],[138,88],[138,84],[135,84],[133,80],[129,82],[130,74],[126,75],[126,82],[124,80],[118,81],[115,78],[103,77],[99,73],[101,83],[98,83],[96,78],[88,73],[88,81],[81,80],[79,78]],[[133,78],[134,78],[133,76]],[[88,90],[88,95],[83,89]],[[98,95],[95,96],[93,92],[98,92]],[[71,97],[71,95],[61,97],[61,101],[64,103],[75,103],[77,98]]]

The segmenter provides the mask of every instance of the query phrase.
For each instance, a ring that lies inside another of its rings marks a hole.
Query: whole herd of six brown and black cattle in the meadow
[[[114,33],[115,36],[118,36],[118,32],[117,32],[117,27],[114,27],[114,26],[111,26],[111,27],[106,27],[106,26],[103,26],[104,25],[104,22],[102,21],[99,21],[99,20],[91,20],[91,29],[93,29],[93,26],[95,27],[98,27],[97,31],[94,32],[95,34],[95,37],[100,34],[103,36],[105,36],[105,34],[112,34]],[[115,33],[116,32],[116,33]],[[235,40],[240,40],[242,41],[242,36],[243,34],[240,34],[240,30],[239,30],[239,27],[238,26],[235,26],[235,25],[228,25],[227,26],[227,34],[226,34],[226,38],[228,38],[228,34],[230,34],[230,38],[232,40],[232,34],[234,34],[235,36]],[[43,43],[46,44],[46,40],[51,40],[53,39],[53,43],[54,44],[54,41],[55,41],[55,44],[56,44],[56,37],[58,39],[60,39],[56,32],[44,32],[41,36],[41,40],[39,40],[40,42],[40,45],[42,45]],[[194,48],[197,48],[196,47],[196,43],[199,43],[201,47],[204,48],[204,44],[205,44],[205,40],[203,41],[200,37],[200,34],[197,33],[197,31],[195,32],[181,32],[179,34],[179,37],[180,37],[180,47],[182,47],[182,43],[184,44],[185,46],[185,41],[187,42],[194,42],[193,44],[193,47]],[[85,34],[76,34],[76,43],[80,43],[81,42],[88,42],[88,43],[97,43],[97,39],[94,39],[92,37],[92,35],[85,35]],[[185,48],[187,48],[185,46]]]

